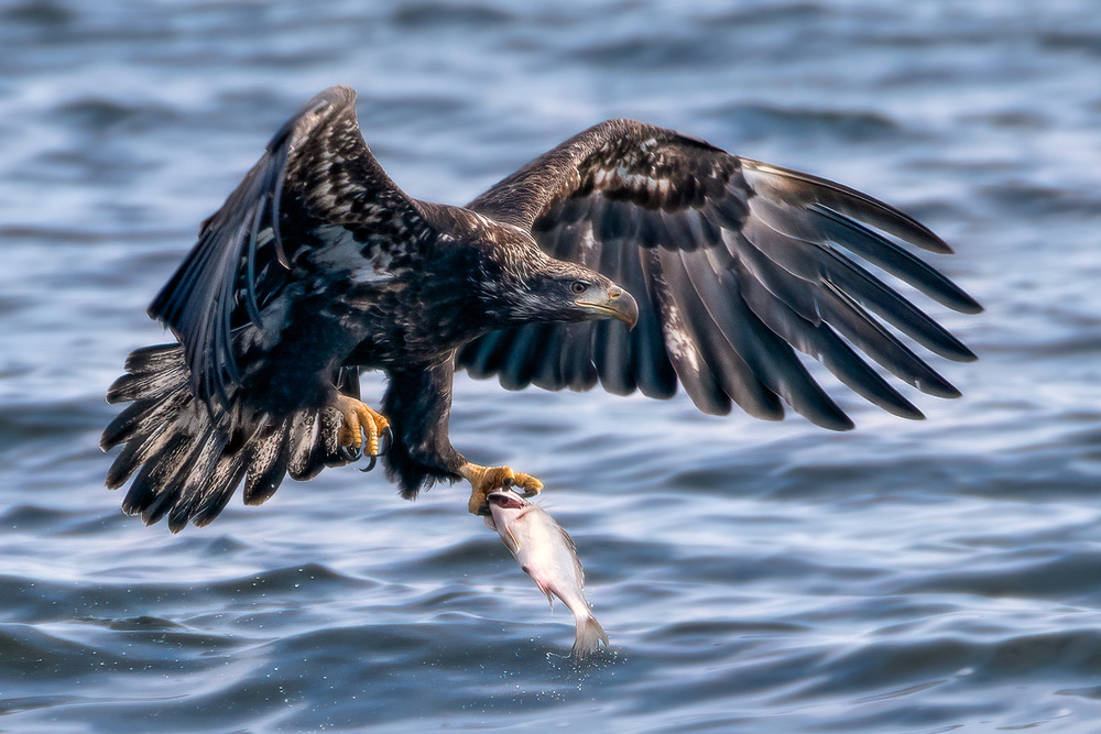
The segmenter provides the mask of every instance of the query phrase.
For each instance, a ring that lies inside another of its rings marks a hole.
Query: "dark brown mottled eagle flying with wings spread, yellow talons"
[[[802,352],[922,418],[870,362],[956,397],[914,346],[975,355],[884,278],[981,307],[911,247],[951,252],[860,191],[631,120],[575,135],[465,207],[418,200],[371,154],[356,92],[331,87],[275,133],[150,305],[176,342],[131,353],[109,388],[131,405],[100,441],[123,447],[106,483],[133,476],[123,510],[172,532],[210,523],[242,482],[255,505],[287,474],[364,456],[406,499],[468,481],[476,514],[499,487],[539,492],[451,446],[457,369],[512,390],[668,398],[679,385],[708,414],[737,404],[778,420],[786,404],[852,428]],[[378,410],[361,370],[388,379]]]

